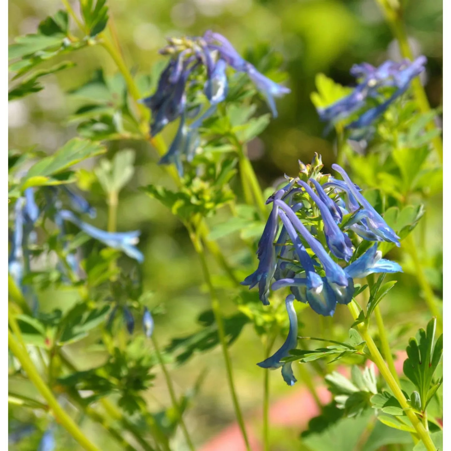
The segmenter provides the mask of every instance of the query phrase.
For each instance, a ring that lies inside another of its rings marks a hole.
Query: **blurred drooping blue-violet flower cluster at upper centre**
[[[198,128],[216,111],[216,106],[226,99],[227,67],[249,76],[266,98],[274,117],[277,116],[274,97],[281,97],[290,90],[258,72],[219,33],[207,31],[202,37],[171,38],[168,42],[160,53],[170,55],[171,59],[161,73],[156,92],[143,99],[142,103],[152,111],[152,136],[180,118],[174,141],[162,156],[160,164],[174,163],[179,174],[183,175],[182,156],[187,161],[193,159],[200,143]],[[189,87],[193,87],[194,99],[187,96]],[[206,102],[199,98],[201,90],[209,103],[202,114],[202,106]],[[194,118],[188,125],[187,120]]]

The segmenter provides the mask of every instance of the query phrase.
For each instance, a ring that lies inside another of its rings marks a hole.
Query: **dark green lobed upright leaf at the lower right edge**
[[[415,338],[410,339],[406,349],[408,358],[403,365],[404,374],[418,388],[423,411],[432,397],[428,393],[443,354],[443,335],[438,337],[434,345],[436,322],[437,319],[433,318],[428,322],[426,331],[419,330],[419,342]]]

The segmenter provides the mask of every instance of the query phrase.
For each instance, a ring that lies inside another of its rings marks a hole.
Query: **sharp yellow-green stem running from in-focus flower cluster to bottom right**
[[[350,310],[350,313],[352,315],[352,318],[356,320],[359,318],[360,309],[357,306],[357,304],[352,300],[348,304],[348,308]],[[412,426],[414,427],[416,433],[419,435],[421,441],[423,442],[424,446],[426,447],[427,451],[437,451],[431,437],[429,436],[428,431],[424,428],[421,421],[418,419],[414,411],[410,408],[410,406],[407,404],[407,400],[405,399],[405,396],[403,392],[401,391],[400,386],[396,383],[395,378],[391,375],[390,370],[387,367],[387,364],[385,363],[384,359],[382,358],[381,353],[377,349],[376,344],[373,341],[373,338],[368,333],[368,326],[361,322],[357,329],[359,331],[360,336],[362,339],[366,342],[366,346],[371,354],[372,360],[374,364],[376,364],[377,368],[379,369],[379,372],[381,373],[382,377],[385,379],[385,382],[387,382],[388,387],[390,387],[390,390],[393,393],[393,396],[398,400],[400,403],[401,408],[405,411],[405,414],[410,420],[410,423],[412,423]]]

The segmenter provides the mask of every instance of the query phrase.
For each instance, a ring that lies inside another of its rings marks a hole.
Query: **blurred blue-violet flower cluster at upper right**
[[[377,117],[410,86],[411,81],[421,74],[427,60],[419,56],[413,62],[404,60],[400,63],[385,61],[379,67],[368,63],[354,64],[350,74],[357,78],[359,84],[354,90],[326,108],[318,108],[318,115],[323,122],[328,122],[330,130],[337,122],[362,110],[359,118],[351,122],[350,129],[364,129],[370,126]],[[389,97],[386,88],[394,88]],[[363,111],[366,107],[367,110]]]

